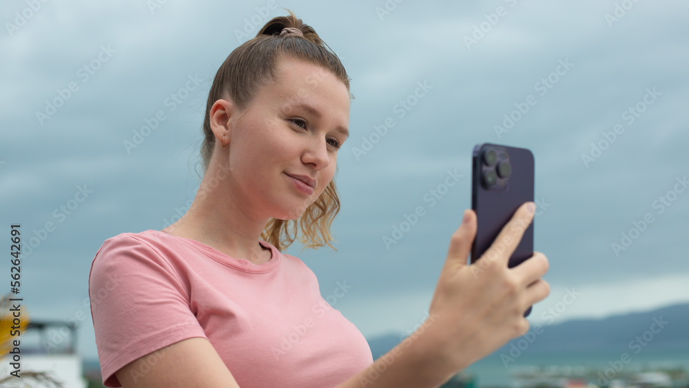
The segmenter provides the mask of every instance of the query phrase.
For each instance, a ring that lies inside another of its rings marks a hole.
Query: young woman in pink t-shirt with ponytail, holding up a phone
[[[351,95],[324,44],[289,12],[236,48],[209,93],[205,174],[189,211],[96,253],[89,294],[106,387],[438,387],[528,330],[522,314],[549,293],[548,261],[506,263],[533,203],[478,271],[466,265],[476,220],[464,212],[429,318],[375,362],[313,272],[281,252],[297,227],[308,247],[330,245],[339,210]]]

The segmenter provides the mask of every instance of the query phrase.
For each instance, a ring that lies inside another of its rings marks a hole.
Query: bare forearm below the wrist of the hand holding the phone
[[[431,314],[432,317],[432,314]],[[424,324],[384,356],[336,388],[438,388],[460,368],[442,357]]]

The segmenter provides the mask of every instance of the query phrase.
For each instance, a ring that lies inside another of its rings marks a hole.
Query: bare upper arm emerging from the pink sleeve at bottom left
[[[239,388],[206,338],[181,340],[115,372],[123,388]]]

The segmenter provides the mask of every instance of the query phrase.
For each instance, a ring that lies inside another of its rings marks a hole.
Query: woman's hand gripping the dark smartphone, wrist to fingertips
[[[437,357],[437,373],[455,374],[528,331],[524,312],[543,300],[550,286],[541,277],[548,259],[540,252],[513,268],[508,260],[533,220],[530,203],[517,209],[491,247],[472,265],[467,257],[476,235],[476,215],[464,212],[426,318],[426,354]],[[533,205],[533,203],[531,203]]]

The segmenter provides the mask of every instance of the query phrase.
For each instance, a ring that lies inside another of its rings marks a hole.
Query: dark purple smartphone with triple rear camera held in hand
[[[473,149],[471,165],[471,209],[476,213],[476,238],[471,245],[471,263],[491,246],[502,227],[524,202],[533,201],[533,154],[526,148],[490,143]],[[515,267],[533,255],[533,221],[508,267]],[[524,316],[531,313],[528,307]]]

